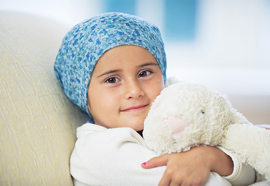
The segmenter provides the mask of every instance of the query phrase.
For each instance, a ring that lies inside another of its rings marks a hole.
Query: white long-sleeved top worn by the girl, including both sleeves
[[[132,128],[84,124],[77,128],[77,141],[70,157],[74,186],[157,186],[166,166],[143,169],[141,163],[158,154]],[[255,171],[229,152],[234,171],[229,177],[211,172],[206,186],[240,186],[255,182]],[[231,183],[229,183],[228,181]]]

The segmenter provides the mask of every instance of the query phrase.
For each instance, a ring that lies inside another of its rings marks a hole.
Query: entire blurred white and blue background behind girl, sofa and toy
[[[103,12],[157,25],[167,76],[227,94],[254,124],[270,124],[270,0],[0,0],[0,10],[73,25]]]

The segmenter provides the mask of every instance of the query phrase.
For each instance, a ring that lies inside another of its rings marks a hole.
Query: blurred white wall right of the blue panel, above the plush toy
[[[228,94],[270,95],[270,1],[200,4],[197,40],[167,45],[169,71]]]

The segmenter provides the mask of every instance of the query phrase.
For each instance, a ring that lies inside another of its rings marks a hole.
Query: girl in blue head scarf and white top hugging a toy
[[[74,185],[255,182],[255,171],[225,149],[199,146],[157,157],[147,148],[143,123],[166,82],[163,41],[153,24],[124,13],[79,23],[64,37],[54,70],[68,98],[91,118],[77,129]]]

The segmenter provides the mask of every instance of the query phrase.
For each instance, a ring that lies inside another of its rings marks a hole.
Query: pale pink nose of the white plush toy
[[[169,116],[164,122],[173,134],[182,132],[188,126],[183,119],[172,116]]]

